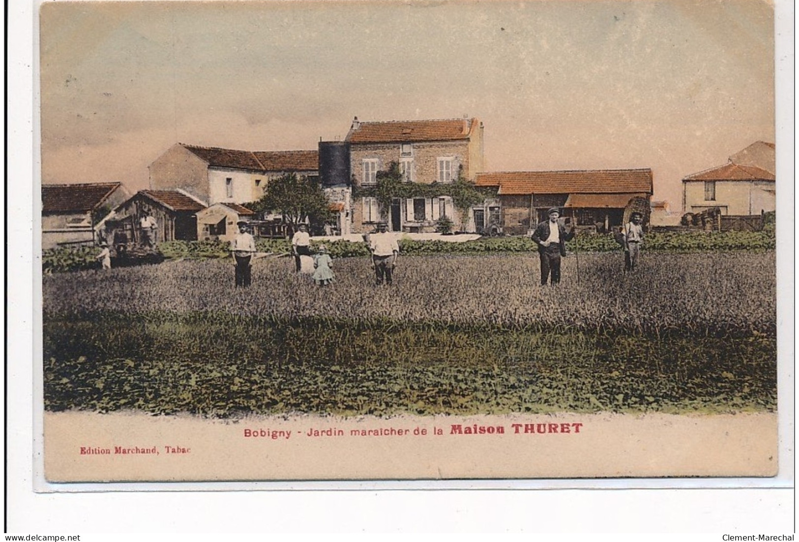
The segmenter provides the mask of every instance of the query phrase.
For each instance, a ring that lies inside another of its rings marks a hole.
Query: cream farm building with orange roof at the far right
[[[724,165],[682,179],[683,213],[720,209],[722,215],[750,217],[773,211],[776,155],[773,143],[756,141]]]

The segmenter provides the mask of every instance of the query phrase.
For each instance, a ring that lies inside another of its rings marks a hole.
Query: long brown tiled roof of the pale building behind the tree
[[[236,150],[185,145],[211,167],[248,169],[250,171],[306,171],[319,169],[317,150]]]

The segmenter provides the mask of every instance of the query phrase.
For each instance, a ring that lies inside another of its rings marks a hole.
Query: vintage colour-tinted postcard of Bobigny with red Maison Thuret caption
[[[772,3],[38,23],[48,488],[778,474]]]

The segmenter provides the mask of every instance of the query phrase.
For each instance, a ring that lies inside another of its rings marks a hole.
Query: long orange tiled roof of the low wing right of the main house
[[[499,194],[652,193],[651,169],[503,171],[477,173],[475,185],[499,186]]]

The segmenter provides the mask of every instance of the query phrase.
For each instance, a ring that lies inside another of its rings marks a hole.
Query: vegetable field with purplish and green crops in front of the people
[[[774,255],[363,257],[320,288],[290,258],[44,277],[50,410],[339,415],[776,408]],[[579,274],[579,276],[578,276]]]

